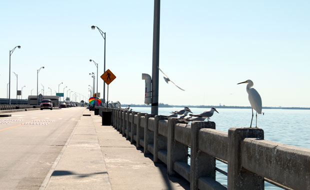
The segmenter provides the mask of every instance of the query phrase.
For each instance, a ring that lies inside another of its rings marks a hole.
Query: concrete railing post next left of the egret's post
[[[198,133],[201,128],[215,129],[215,122],[193,121],[190,129],[190,190],[198,189],[198,179],[207,176],[215,179],[215,157],[199,151]]]

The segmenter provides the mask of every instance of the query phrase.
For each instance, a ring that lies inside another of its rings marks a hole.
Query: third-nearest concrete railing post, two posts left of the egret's
[[[169,175],[173,175],[173,162],[180,157],[183,157],[182,154],[184,151],[184,147],[178,146],[178,143],[175,143],[174,140],[174,125],[177,123],[176,118],[168,118],[168,136],[167,136],[167,173]],[[187,146],[186,148],[187,149]]]

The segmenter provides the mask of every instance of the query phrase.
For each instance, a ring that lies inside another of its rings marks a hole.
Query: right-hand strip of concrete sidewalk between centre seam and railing
[[[151,154],[145,157],[112,126],[102,126],[99,115],[91,117],[113,190],[189,189],[184,178],[167,175],[164,163],[154,163]]]

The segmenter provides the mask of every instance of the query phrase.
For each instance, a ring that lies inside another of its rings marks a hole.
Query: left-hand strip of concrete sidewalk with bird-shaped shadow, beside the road
[[[40,189],[111,189],[90,116],[81,116]]]

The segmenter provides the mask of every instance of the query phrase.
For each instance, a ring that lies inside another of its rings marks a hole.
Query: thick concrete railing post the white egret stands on
[[[240,144],[244,138],[263,139],[261,128],[229,128],[228,129],[228,174],[227,189],[241,190],[253,189],[263,190],[263,177],[256,175],[241,165]]]

